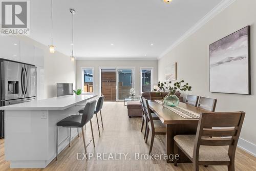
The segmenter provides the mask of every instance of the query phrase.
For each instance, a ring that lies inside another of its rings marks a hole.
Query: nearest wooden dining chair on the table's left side
[[[143,97],[142,101],[144,105],[145,115],[147,118],[147,131],[146,131],[145,143],[147,143],[148,134],[149,132],[151,132],[151,143],[150,143],[150,152],[149,152],[149,154],[151,154],[155,135],[165,135],[166,128],[165,128],[165,125],[160,120],[153,120],[152,114],[150,112],[150,106],[148,105],[147,99]]]

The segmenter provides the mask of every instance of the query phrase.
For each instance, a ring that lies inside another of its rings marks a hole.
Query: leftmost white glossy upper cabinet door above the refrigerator
[[[11,36],[1,36],[0,58],[19,62],[19,40]]]

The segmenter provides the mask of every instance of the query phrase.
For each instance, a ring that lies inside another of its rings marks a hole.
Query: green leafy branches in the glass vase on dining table
[[[169,81],[168,83],[166,82],[158,82],[157,86],[159,87],[159,89],[154,89],[154,91],[158,91],[160,92],[162,91],[168,91],[170,95],[174,95],[176,91],[180,90],[180,91],[191,91],[191,86],[188,86],[188,83],[184,83],[184,80],[180,81],[180,82],[175,82],[174,86],[169,86],[169,84],[172,83],[172,81]]]

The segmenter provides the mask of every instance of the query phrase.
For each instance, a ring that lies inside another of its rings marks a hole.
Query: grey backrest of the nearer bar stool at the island
[[[96,100],[86,103],[86,106],[84,107],[82,112],[82,120],[81,120],[82,124],[86,124],[93,118],[95,105],[96,105]]]

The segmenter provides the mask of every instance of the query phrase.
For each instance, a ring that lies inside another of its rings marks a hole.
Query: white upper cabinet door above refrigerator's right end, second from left
[[[20,41],[20,62],[35,65],[35,47]]]

